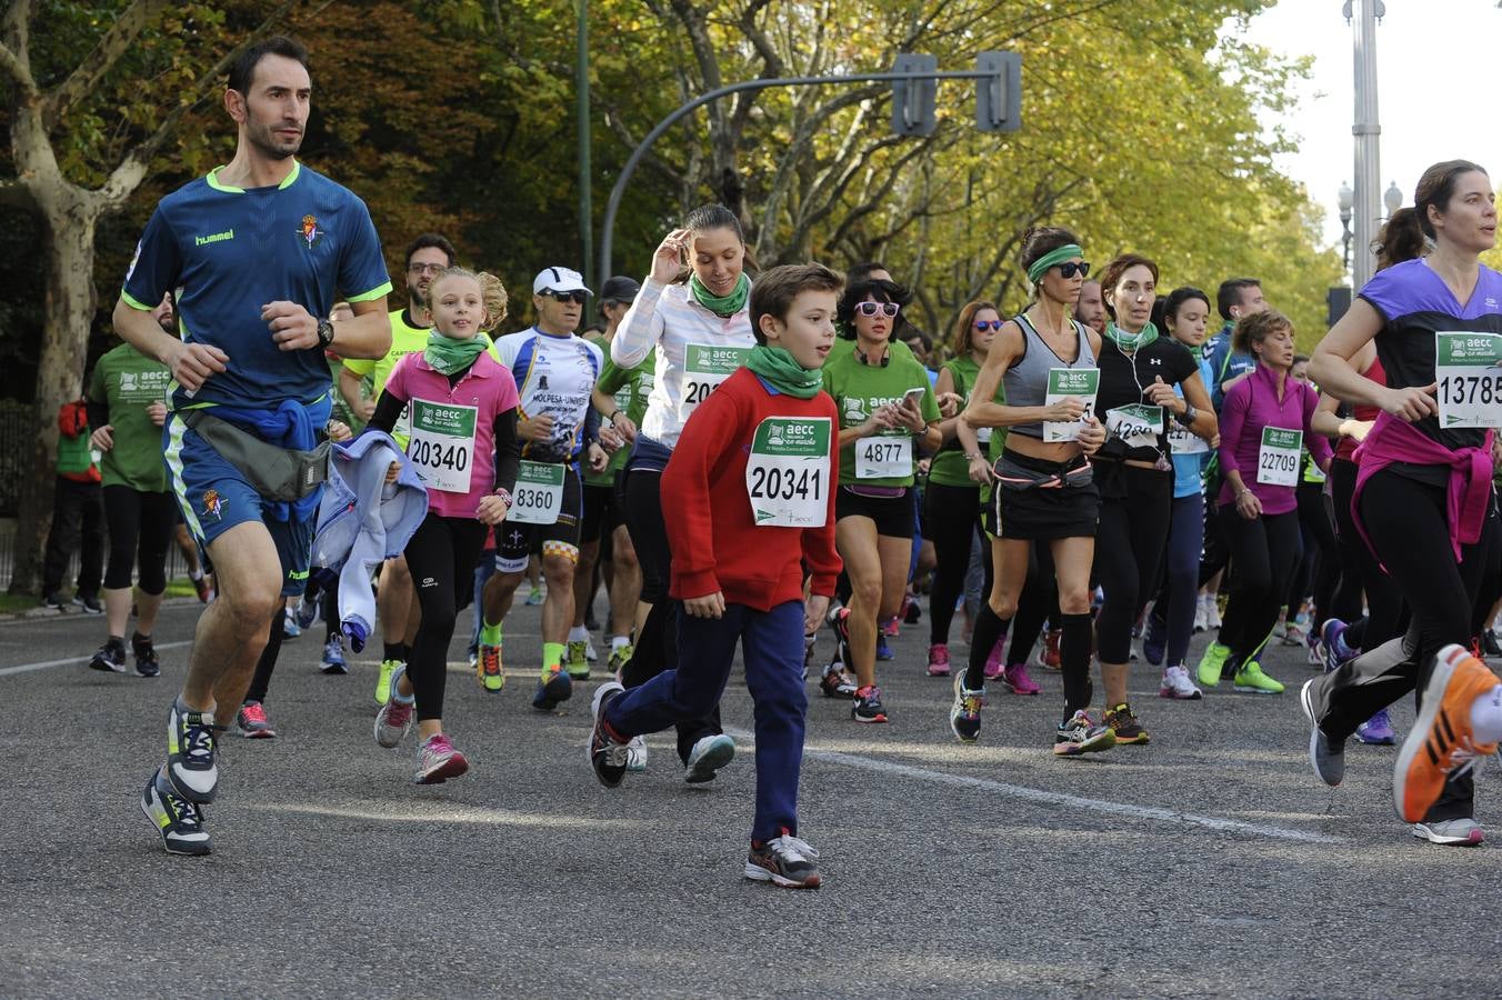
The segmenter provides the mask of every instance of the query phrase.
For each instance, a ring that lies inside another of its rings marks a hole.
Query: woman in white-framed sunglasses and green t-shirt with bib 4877
[[[876,686],[877,622],[897,614],[913,551],[913,470],[918,449],[939,447],[939,404],[928,372],[910,351],[891,350],[907,291],[885,279],[850,284],[835,312],[840,336],[825,362],[825,392],[840,410],[840,491],[835,548],[850,578],[850,601],[835,613],[835,635],[855,673],[850,716],[886,722]]]

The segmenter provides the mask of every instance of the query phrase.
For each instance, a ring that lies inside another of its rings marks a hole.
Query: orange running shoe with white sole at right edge
[[[1478,745],[1470,736],[1470,706],[1496,686],[1497,676],[1463,646],[1446,646],[1434,656],[1424,707],[1392,767],[1392,806],[1406,823],[1422,821],[1449,772],[1497,752],[1496,743]]]

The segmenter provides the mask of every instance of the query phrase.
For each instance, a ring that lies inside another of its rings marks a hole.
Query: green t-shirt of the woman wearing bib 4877
[[[898,354],[888,351],[891,359],[886,365],[867,365],[855,351],[850,341],[837,341],[829,360],[825,362],[825,392],[835,399],[840,410],[840,429],[865,423],[876,410],[886,404],[900,405],[903,395],[909,389],[922,389],[922,401],[918,408],[924,420],[933,423],[939,419],[939,402],[934,399],[928,372],[912,351]],[[904,429],[888,431],[886,434],[852,441],[840,449],[840,485],[859,483],[862,486],[910,486],[913,485],[913,468],[918,464],[918,449],[910,447],[912,462],[906,476],[886,476],[859,479],[856,476],[856,446],[879,441],[880,438],[907,438],[913,435]]]

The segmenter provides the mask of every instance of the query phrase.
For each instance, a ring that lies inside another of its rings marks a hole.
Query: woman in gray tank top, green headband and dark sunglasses
[[[1059,581],[1065,710],[1053,748],[1059,757],[1074,757],[1116,742],[1089,715],[1090,563],[1099,495],[1087,456],[1105,441],[1093,413],[1101,339],[1071,318],[1089,272],[1074,233],[1033,230],[1023,240],[1021,266],[1033,303],[996,335],[957,428],[970,476],[994,480],[1000,532],[991,542],[996,580],[975,623],[969,670],[954,680],[949,728],[967,743],[981,734],[985,658],[1017,614],[1029,547],[1036,542],[1050,547]],[[1005,387],[1005,404],[990,402],[997,386]],[[976,446],[978,426],[1009,431],[994,470]]]

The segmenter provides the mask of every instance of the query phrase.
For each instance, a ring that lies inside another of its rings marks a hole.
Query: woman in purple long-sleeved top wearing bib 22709
[[[1307,383],[1289,378],[1293,368],[1293,323],[1275,309],[1236,324],[1238,351],[1257,360],[1250,375],[1226,392],[1221,410],[1220,465],[1224,473],[1217,505],[1236,566],[1220,638],[1200,659],[1206,688],[1230,674],[1236,691],[1281,694],[1283,685],[1262,673],[1257,658],[1278,623],[1289,577],[1299,563],[1296,488],[1307,443],[1314,462],[1329,468],[1331,449],[1310,420],[1319,404]]]

